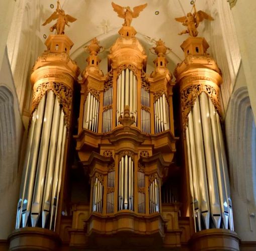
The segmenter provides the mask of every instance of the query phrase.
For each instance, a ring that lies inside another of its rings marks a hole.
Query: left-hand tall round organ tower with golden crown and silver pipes
[[[72,97],[79,68],[66,35],[49,35],[32,70],[33,101],[11,250],[55,250],[60,190],[70,136]],[[31,238],[34,238],[31,241]]]

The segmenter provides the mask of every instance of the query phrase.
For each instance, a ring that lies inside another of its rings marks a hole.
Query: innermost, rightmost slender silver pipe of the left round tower
[[[55,210],[57,206],[57,191],[58,191],[58,178],[59,178],[59,168],[61,162],[61,146],[62,138],[64,131],[64,112],[61,110],[60,119],[59,119],[59,131],[58,131],[58,140],[57,140],[57,149],[56,149],[56,158],[54,164],[54,173],[53,173],[53,183],[52,183],[52,194],[51,194],[51,211],[50,211],[50,229],[53,229]]]

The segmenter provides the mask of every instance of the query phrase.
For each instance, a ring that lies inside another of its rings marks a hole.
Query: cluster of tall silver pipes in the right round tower
[[[198,204],[202,211],[205,228],[223,227],[233,230],[232,206],[221,124],[219,115],[206,93],[202,92],[197,97],[188,118],[186,140],[195,213],[197,198],[200,196],[201,201]],[[194,146],[196,146],[196,152]],[[195,160],[195,156],[197,160]],[[209,213],[212,218],[212,225],[210,224]],[[201,230],[199,221],[196,222],[197,229]]]

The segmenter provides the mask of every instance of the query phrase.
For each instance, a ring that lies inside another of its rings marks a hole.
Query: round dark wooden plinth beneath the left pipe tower
[[[58,234],[41,227],[24,227],[9,236],[10,250],[57,250],[61,242]]]

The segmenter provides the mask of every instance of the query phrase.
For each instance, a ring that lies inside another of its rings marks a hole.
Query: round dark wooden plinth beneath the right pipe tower
[[[227,229],[205,229],[195,233],[190,239],[191,250],[239,250],[236,232]]]

